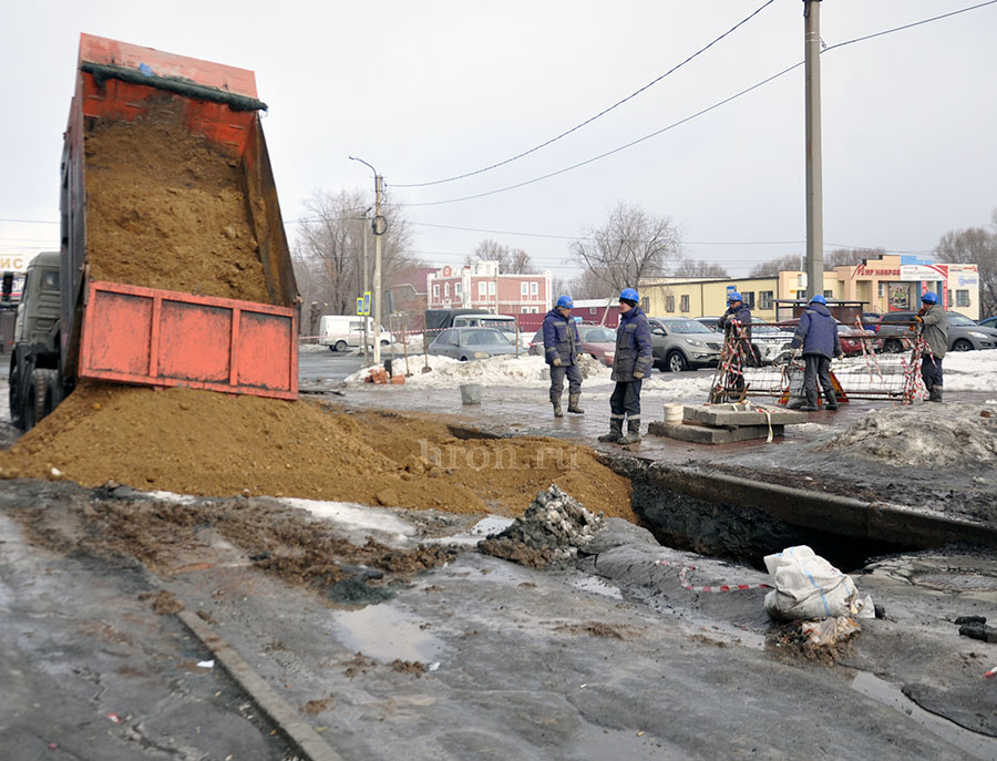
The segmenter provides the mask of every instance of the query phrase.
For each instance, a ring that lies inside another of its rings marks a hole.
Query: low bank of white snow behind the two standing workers
[[[405,379],[405,385],[420,388],[454,389],[465,383],[544,387],[551,383],[551,372],[544,358],[531,354],[520,354],[518,358],[515,356],[490,357],[470,362],[431,354],[429,358],[431,372],[422,371],[425,367],[425,356],[421,354],[409,357],[409,366],[412,377]],[[403,362],[398,367],[403,368]],[[593,382],[609,380],[609,368],[592,357],[583,357],[580,368],[582,377]],[[368,371],[369,368],[354,372],[346,379],[346,382],[362,383]]]

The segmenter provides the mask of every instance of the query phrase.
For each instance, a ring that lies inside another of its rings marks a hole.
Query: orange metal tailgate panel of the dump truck
[[[298,398],[297,312],[91,280],[79,376]]]

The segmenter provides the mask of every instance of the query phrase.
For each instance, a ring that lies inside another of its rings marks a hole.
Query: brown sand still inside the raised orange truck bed
[[[168,111],[86,134],[91,277],[267,304],[239,162]]]

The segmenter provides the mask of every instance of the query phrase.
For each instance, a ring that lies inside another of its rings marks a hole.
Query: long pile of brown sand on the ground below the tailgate
[[[461,440],[430,419],[184,388],[83,382],[0,453],[0,477],[503,515],[557,483],[593,511],[636,520],[629,483],[583,446]]]

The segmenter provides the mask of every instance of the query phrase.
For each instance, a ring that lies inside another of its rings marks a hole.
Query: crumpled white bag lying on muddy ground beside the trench
[[[773,618],[812,619],[851,615],[859,590],[841,573],[806,545],[788,547],[765,556],[774,589],[765,595],[765,610]]]

